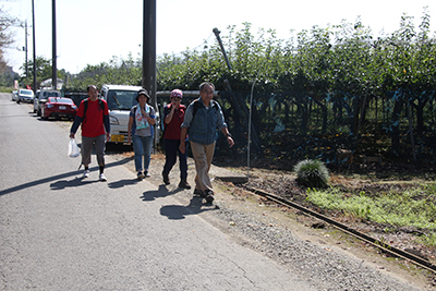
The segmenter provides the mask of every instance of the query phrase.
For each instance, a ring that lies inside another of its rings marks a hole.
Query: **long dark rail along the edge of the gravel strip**
[[[350,228],[350,227],[348,227],[346,225],[342,225],[342,223],[340,223],[340,222],[338,222],[338,221],[336,221],[336,220],[334,220],[331,218],[328,218],[328,217],[326,217],[326,216],[324,216],[322,214],[313,211],[313,210],[311,210],[311,209],[308,209],[306,207],[303,207],[303,206],[301,206],[301,205],[299,205],[296,203],[293,203],[293,202],[290,202],[290,201],[284,199],[282,197],[279,197],[279,196],[277,196],[275,194],[267,193],[267,192],[265,192],[263,190],[255,189],[255,187],[252,187],[252,186],[249,186],[249,185],[245,185],[245,187],[249,191],[251,191],[254,194],[256,194],[256,195],[266,197],[266,198],[268,198],[270,201],[274,201],[274,202],[276,202],[278,204],[299,209],[299,210],[301,210],[301,211],[303,211],[305,214],[308,214],[308,215],[311,215],[313,217],[316,217],[316,218],[318,218],[318,219],[320,219],[323,221],[328,222],[329,225],[340,229],[341,231],[343,231],[343,232],[346,232],[346,233],[348,233],[350,235],[353,235],[354,238],[358,238],[358,239],[360,239],[362,241],[365,241],[365,242],[374,245],[375,247],[378,247],[383,252],[389,253],[392,256],[401,257],[403,259],[409,259],[409,260],[413,262],[415,265],[419,265],[420,267],[425,268],[425,269],[436,274],[436,266],[431,264],[425,258],[419,257],[419,256],[416,256],[414,254],[411,254],[409,252],[405,252],[405,251],[402,251],[402,250],[397,248],[395,246],[388,245],[383,241],[376,240],[376,239],[374,239],[374,238],[372,238],[370,235],[366,235],[365,233],[362,233],[362,232],[360,232],[360,231],[358,231],[355,229],[352,229],[352,228]]]

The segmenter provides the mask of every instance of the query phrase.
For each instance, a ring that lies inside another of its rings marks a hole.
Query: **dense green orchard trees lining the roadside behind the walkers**
[[[244,129],[237,133],[241,154],[252,108],[256,155],[334,160],[337,149],[347,148],[434,156],[436,36],[429,19],[424,8],[416,27],[404,14],[398,31],[377,37],[359,17],[291,31],[288,39],[274,29],[254,34],[250,23],[229,26],[221,38],[231,70],[217,43],[166,53],[157,60],[157,89],[194,90],[204,81],[215,83],[229,123]],[[90,83],[141,85],[141,57],[113,57],[78,74],[65,73],[65,90],[83,92]]]

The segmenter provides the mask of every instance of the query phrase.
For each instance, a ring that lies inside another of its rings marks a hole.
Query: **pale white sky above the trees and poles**
[[[35,1],[36,54],[52,58],[52,0]],[[0,7],[11,16],[27,21],[27,53],[33,58],[32,0],[0,0]],[[391,34],[400,27],[401,16],[414,16],[421,23],[423,8],[428,7],[431,31],[436,31],[436,0],[156,0],[156,52],[180,53],[202,48],[205,41],[217,41],[213,29],[225,35],[229,25],[237,29],[252,24],[271,28],[287,39],[290,31],[327,27],[342,20],[354,23],[360,16],[377,36]],[[109,62],[113,56],[126,59],[141,57],[143,41],[143,0],[56,0],[57,66],[72,74],[87,64]],[[13,28],[15,48],[5,50],[5,59],[15,72],[25,62],[24,28]]]

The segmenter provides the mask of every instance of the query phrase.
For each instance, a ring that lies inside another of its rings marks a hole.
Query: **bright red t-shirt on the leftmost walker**
[[[108,104],[101,99],[105,105],[105,116],[109,114]],[[77,116],[83,118],[83,111],[85,109],[84,100],[78,106]],[[102,121],[104,112],[101,106],[98,104],[98,99],[92,101],[88,99],[88,108],[86,109],[86,116],[82,121],[82,135],[86,137],[96,137],[105,134],[105,124]]]

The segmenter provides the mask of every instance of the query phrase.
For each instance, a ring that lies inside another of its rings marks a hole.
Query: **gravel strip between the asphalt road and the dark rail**
[[[108,154],[134,172],[132,154]],[[185,215],[201,215],[233,240],[251,247],[308,278],[318,290],[436,290],[435,276],[408,262],[397,263],[377,250],[327,227],[312,229],[311,218],[270,205],[232,183],[214,181],[216,201],[206,205],[181,190],[178,163],[170,173],[172,183],[161,182],[162,155],[154,155],[147,181],[167,191],[185,205]],[[189,181],[194,185],[193,161],[189,161]]]

